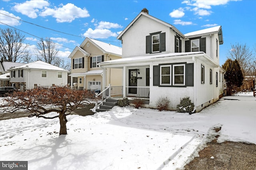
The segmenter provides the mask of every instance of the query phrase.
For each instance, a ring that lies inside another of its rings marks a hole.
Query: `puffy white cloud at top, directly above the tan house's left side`
[[[72,22],[76,18],[86,18],[90,16],[86,8],[81,9],[71,3],[60,8],[55,7],[54,9],[46,7],[39,15],[52,16],[56,18],[57,22]]]

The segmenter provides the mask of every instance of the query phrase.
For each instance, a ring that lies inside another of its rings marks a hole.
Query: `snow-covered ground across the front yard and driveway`
[[[0,160],[27,160],[29,170],[182,169],[218,134],[218,142],[256,144],[256,98],[228,96],[200,113],[114,107],[92,116],[0,121]],[[214,127],[221,127],[216,133]]]

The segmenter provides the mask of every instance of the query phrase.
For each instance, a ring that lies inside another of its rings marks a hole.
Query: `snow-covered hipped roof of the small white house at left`
[[[44,61],[34,61],[32,63],[28,63],[28,64],[23,64],[22,66],[18,66],[15,68],[11,68],[10,70],[15,70],[15,69],[28,69],[28,68],[32,68],[32,69],[42,69],[42,70],[58,70],[58,71],[68,71],[65,70],[63,68],[54,66],[52,64],[49,63],[45,63]]]

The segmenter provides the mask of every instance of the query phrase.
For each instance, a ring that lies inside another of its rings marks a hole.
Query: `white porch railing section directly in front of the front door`
[[[149,87],[126,86],[126,97],[149,99]]]

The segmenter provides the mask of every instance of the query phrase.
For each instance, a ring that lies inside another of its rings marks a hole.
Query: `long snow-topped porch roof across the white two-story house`
[[[170,61],[170,60],[178,60],[178,59],[190,59],[192,57],[202,58],[204,61],[208,61],[214,66],[219,66],[219,64],[215,63],[206,53],[199,52],[187,52],[187,53],[164,53],[164,54],[154,54],[154,55],[142,55],[136,57],[126,57],[117,60],[104,61],[99,63],[98,65],[102,67],[116,67],[116,66],[124,66],[124,64],[134,64],[134,65],[146,65],[150,62],[155,61]]]

